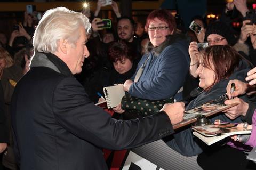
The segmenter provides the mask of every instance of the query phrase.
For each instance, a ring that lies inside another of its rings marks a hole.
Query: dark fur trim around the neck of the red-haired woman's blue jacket
[[[187,37],[183,34],[167,35],[165,41],[157,47],[154,47],[151,42],[147,44],[146,54],[152,52],[154,56],[159,56],[161,52],[169,45],[177,41],[187,41]]]

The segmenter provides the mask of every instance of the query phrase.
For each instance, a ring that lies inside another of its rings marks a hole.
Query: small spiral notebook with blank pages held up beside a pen
[[[123,96],[125,95],[123,84],[114,84],[113,86],[103,87],[103,92],[108,109],[114,108],[120,104]]]

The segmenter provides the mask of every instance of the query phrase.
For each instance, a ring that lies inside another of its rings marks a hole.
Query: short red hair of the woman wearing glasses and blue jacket
[[[145,30],[148,30],[149,23],[153,21],[155,18],[158,18],[161,21],[164,21],[167,23],[169,29],[175,33],[176,31],[176,21],[173,17],[171,11],[166,9],[157,9],[149,13],[145,25]]]

